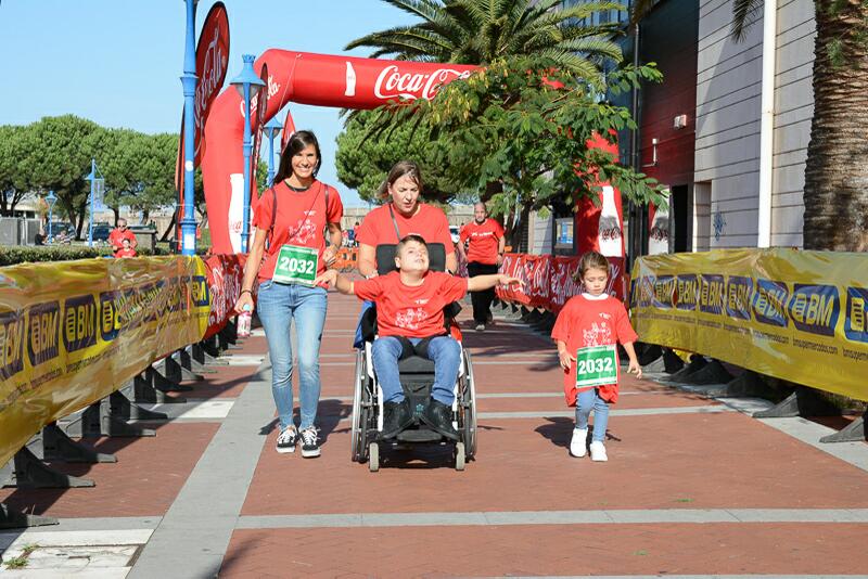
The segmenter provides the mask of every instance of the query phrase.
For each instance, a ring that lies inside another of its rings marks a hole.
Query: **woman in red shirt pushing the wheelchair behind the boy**
[[[410,234],[419,235],[425,243],[442,243],[446,248],[446,269],[455,272],[458,259],[449,234],[449,221],[442,209],[421,203],[422,172],[411,160],[396,163],[388,171],[381,190],[388,198],[369,213],[359,226],[356,242],[359,244],[359,273],[366,278],[376,275],[376,246],[396,244]]]

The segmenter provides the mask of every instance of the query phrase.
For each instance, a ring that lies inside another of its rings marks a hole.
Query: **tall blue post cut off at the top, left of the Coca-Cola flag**
[[[183,217],[181,218],[181,254],[193,256],[196,254],[196,218],[193,211],[195,200],[193,197],[193,157],[195,155],[195,95],[196,95],[196,49],[195,24],[196,2],[199,0],[184,0],[187,3],[187,36],[183,52]]]

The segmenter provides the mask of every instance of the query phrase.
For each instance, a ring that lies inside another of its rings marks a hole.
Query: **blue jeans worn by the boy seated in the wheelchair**
[[[416,346],[422,338],[409,338]],[[398,358],[404,348],[398,338],[394,336],[380,337],[373,340],[371,357],[376,379],[383,389],[384,402],[400,402],[404,400],[404,389],[398,375]],[[431,397],[446,406],[452,406],[455,400],[455,383],[461,368],[461,346],[451,336],[437,336],[431,338],[427,345],[429,360],[434,361],[434,386],[431,387]]]

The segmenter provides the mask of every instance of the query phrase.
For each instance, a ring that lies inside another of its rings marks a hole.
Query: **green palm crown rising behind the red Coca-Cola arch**
[[[373,48],[372,57],[487,64],[513,55],[553,60],[592,83],[601,70],[622,60],[611,38],[614,24],[586,26],[586,18],[604,10],[623,10],[612,2],[588,2],[558,10],[561,0],[384,0],[421,18],[409,26],[371,33],[346,50]]]

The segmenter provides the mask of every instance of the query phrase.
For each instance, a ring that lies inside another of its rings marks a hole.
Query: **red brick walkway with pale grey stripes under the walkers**
[[[468,308],[462,325],[469,327]],[[322,456],[273,450],[261,335],[225,358],[157,436],[104,439],[116,464],[59,468],[94,488],[0,490],[60,517],[0,533],[2,577],[832,577],[868,569],[868,445],[819,445],[802,419],[758,421],[625,378],[609,463],[567,455],[573,428],[550,340],[521,323],[465,332],[477,460],[391,453],[349,461],[358,305],[332,294],[322,344]]]

